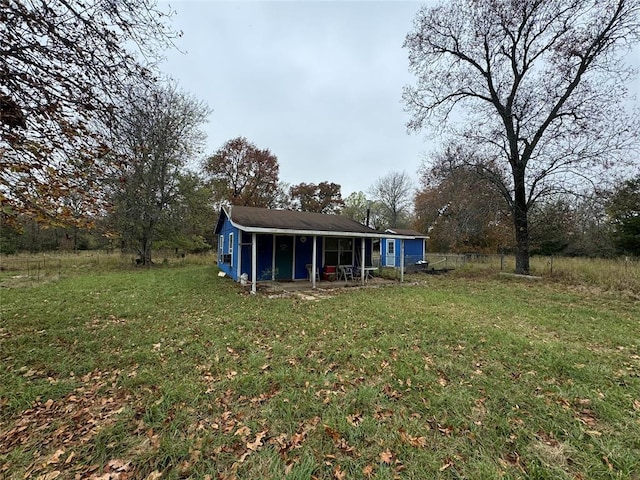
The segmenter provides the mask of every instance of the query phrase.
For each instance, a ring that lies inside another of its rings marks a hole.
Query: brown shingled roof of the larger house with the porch
[[[241,206],[223,207],[216,233],[225,215],[234,226],[245,232],[372,238],[388,236],[342,215]]]

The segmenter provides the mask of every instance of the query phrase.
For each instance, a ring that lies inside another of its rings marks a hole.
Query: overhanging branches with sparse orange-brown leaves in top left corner
[[[0,2],[0,214],[72,223],[113,156],[104,135],[123,86],[151,80],[175,33],[154,0]],[[137,47],[136,55],[130,47]]]

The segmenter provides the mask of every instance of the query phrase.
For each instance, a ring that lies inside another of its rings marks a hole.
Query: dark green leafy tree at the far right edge
[[[609,201],[607,213],[620,252],[640,256],[640,176],[620,185]]]

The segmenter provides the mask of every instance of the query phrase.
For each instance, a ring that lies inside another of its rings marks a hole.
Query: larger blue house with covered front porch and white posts
[[[308,280],[356,267],[364,283],[372,269],[374,239],[405,239],[380,233],[340,215],[229,206],[220,210],[218,266],[235,281]]]

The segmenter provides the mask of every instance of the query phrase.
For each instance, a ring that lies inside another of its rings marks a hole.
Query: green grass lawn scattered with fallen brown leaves
[[[481,270],[247,295],[211,266],[0,290],[0,478],[640,479],[640,302]]]

